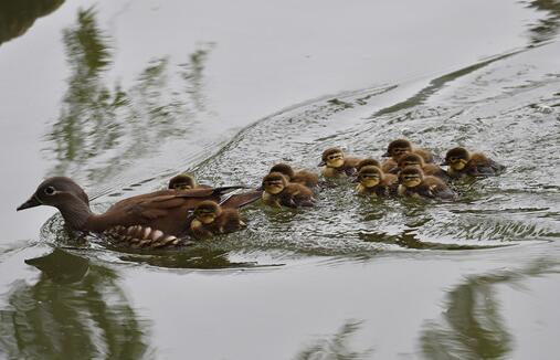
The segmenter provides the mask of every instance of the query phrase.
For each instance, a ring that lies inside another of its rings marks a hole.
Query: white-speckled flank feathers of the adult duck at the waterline
[[[112,242],[133,248],[167,248],[186,245],[181,237],[166,235],[150,226],[115,226],[103,232]]]

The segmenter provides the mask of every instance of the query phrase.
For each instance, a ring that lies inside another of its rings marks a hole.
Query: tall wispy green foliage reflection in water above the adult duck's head
[[[121,171],[166,140],[190,134],[204,109],[202,74],[212,44],[201,45],[173,73],[168,57],[154,59],[130,87],[109,86],[109,38],[96,18],[93,8],[80,10],[76,24],[64,30],[71,75],[47,135],[47,153],[56,160],[52,174],[98,180]]]

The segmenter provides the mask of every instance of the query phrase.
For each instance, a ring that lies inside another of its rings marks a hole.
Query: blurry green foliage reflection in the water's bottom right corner
[[[520,272],[469,278],[448,294],[447,309],[439,322],[425,325],[421,341],[426,359],[505,359],[513,350],[496,299],[496,285],[519,285],[533,276],[559,273],[558,263],[540,261]]]

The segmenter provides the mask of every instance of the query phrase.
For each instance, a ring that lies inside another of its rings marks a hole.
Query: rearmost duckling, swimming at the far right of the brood
[[[447,173],[452,178],[496,176],[506,169],[482,152],[469,152],[461,147],[447,151],[442,165],[448,166]]]

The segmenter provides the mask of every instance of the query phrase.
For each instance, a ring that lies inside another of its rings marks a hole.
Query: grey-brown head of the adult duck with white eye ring
[[[18,207],[17,211],[35,208],[39,205],[49,205],[62,208],[66,204],[84,203],[89,205],[89,199],[84,190],[66,177],[54,177],[43,181],[31,198]]]

